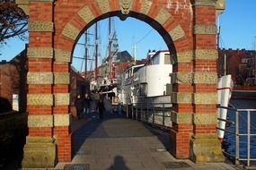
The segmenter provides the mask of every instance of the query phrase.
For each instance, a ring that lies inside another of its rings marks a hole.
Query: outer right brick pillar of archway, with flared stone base
[[[216,0],[194,0],[193,136],[190,158],[223,161],[216,136]]]

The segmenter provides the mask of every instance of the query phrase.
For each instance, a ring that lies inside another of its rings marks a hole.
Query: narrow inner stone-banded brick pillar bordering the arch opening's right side
[[[177,63],[172,73],[172,154],[177,158],[188,158],[192,135],[192,51],[177,53]]]

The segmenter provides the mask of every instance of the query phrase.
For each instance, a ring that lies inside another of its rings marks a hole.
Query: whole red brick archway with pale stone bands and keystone
[[[75,42],[93,22],[121,12],[157,30],[174,58],[174,156],[223,159],[216,138],[216,0],[30,0],[29,10],[29,136],[23,167],[71,161],[69,72]]]

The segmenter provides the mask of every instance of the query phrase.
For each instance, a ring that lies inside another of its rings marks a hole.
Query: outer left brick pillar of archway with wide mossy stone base
[[[53,22],[52,0],[30,0],[28,48],[28,126],[24,146],[23,168],[56,165],[56,143],[53,137]]]

